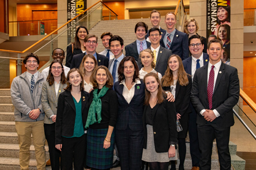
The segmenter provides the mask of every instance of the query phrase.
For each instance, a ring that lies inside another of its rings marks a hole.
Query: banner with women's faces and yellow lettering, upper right
[[[230,1],[207,0],[206,37],[216,35],[223,43],[222,62],[230,65]]]

